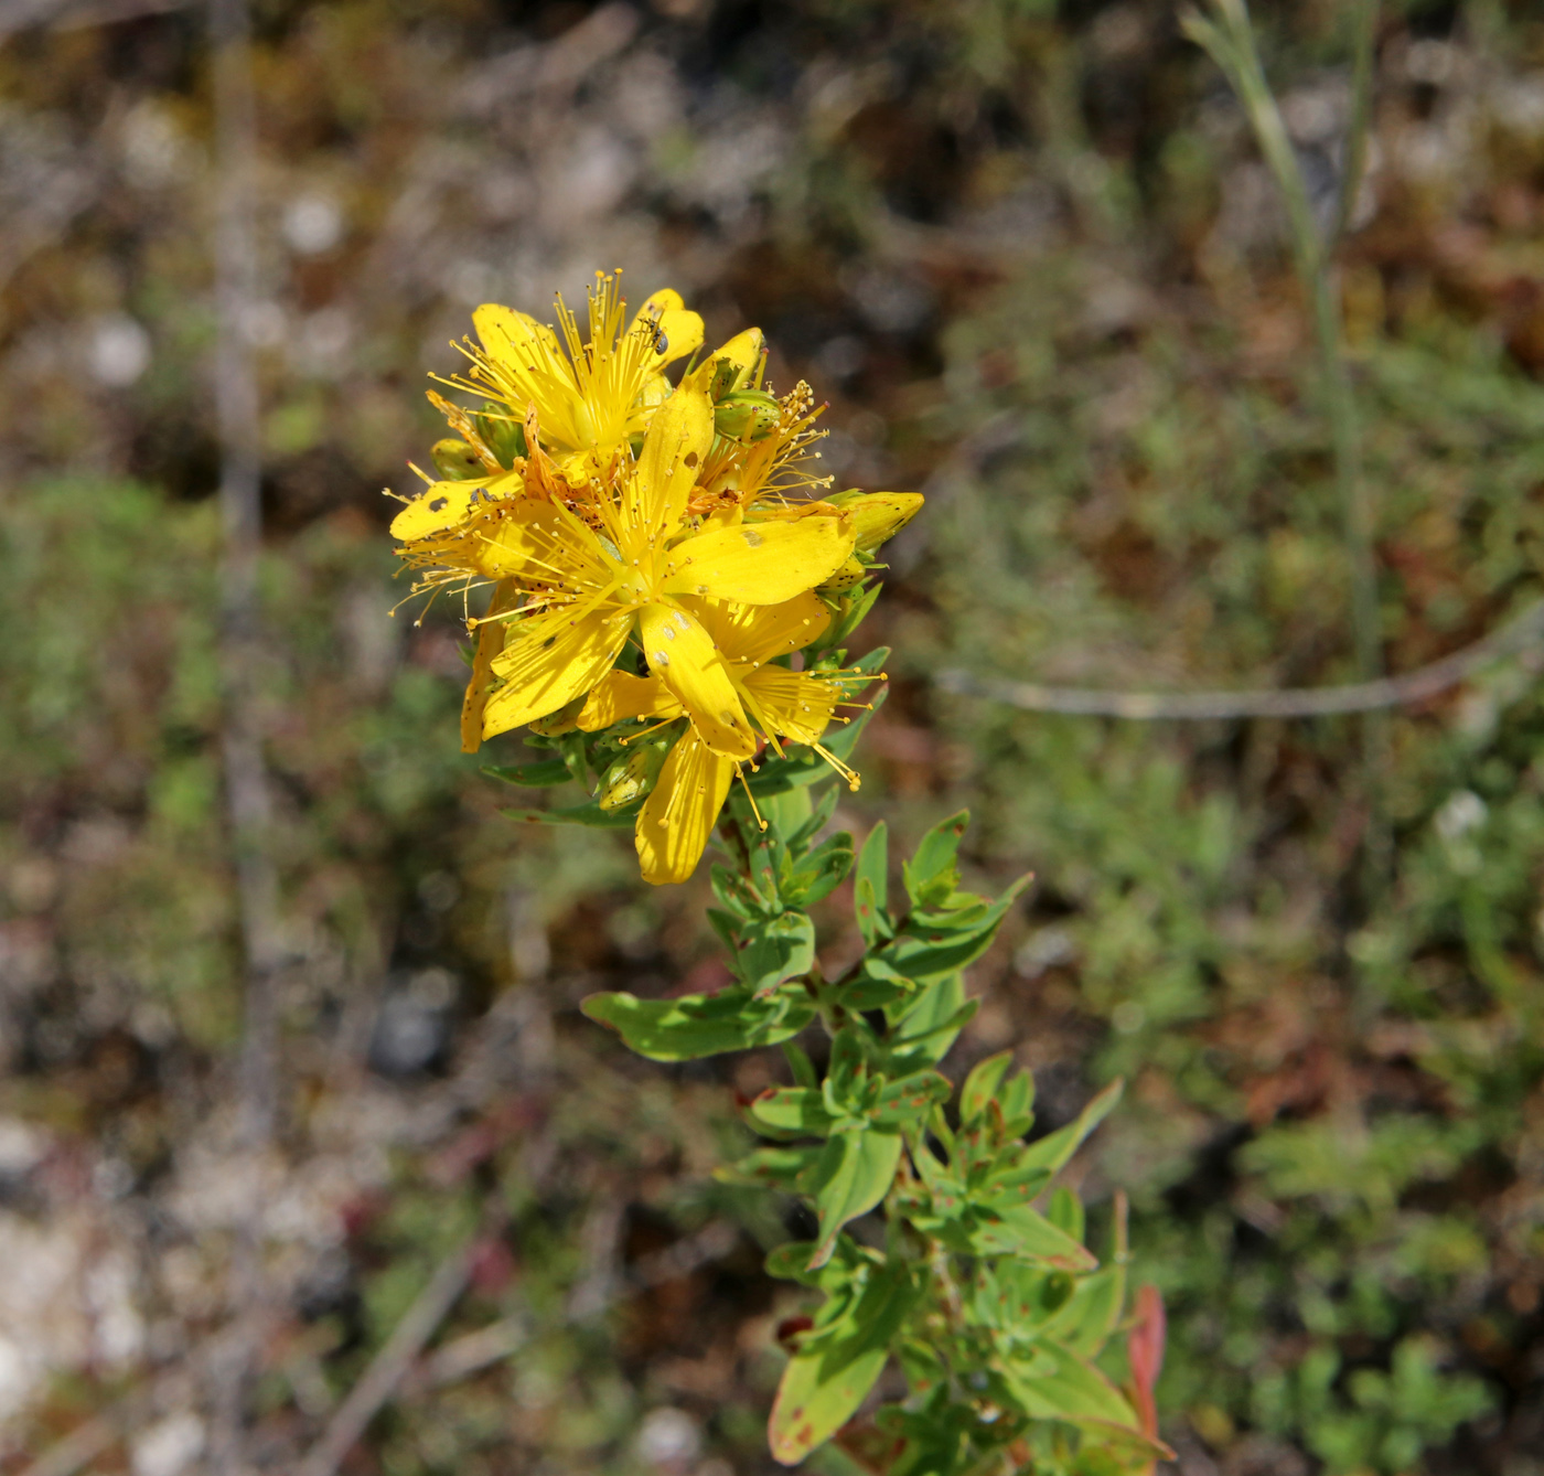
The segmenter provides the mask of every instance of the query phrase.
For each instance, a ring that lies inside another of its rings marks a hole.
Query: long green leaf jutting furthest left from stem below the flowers
[[[650,1061],[695,1061],[777,1045],[797,1036],[815,1017],[815,1005],[803,990],[786,990],[767,999],[755,999],[747,990],[679,999],[590,994],[579,1008]]]

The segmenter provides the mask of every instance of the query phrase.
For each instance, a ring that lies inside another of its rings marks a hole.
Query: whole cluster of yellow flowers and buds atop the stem
[[[463,747],[527,724],[602,735],[618,758],[598,806],[635,815],[645,880],[679,882],[767,753],[808,746],[857,786],[821,736],[871,676],[834,645],[922,499],[831,496],[820,408],[808,384],[780,398],[763,383],[760,329],[704,355],[679,293],[628,321],[618,276],[591,289],[587,337],[562,298],[556,329],[472,313],[448,388],[482,405],[431,392],[457,435],[392,534],[414,590],[459,593],[476,636]]]

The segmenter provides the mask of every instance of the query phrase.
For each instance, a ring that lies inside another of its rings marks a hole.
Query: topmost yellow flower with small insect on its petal
[[[557,332],[530,313],[485,303],[472,313],[482,343],[463,347],[471,369],[451,383],[502,401],[520,425],[536,406],[542,443],[576,471],[604,463],[669,397],[665,364],[703,346],[703,320],[669,287],[650,296],[624,332],[619,278],[596,273],[588,340],[562,296]]]

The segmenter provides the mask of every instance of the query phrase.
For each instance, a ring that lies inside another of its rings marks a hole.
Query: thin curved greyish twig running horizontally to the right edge
[[[1544,604],[1451,656],[1376,681],[1342,687],[1286,687],[1263,692],[1109,692],[1044,687],[1002,676],[940,672],[937,686],[965,696],[985,696],[1027,712],[1087,718],[1201,721],[1237,718],[1328,718],[1353,712],[1413,707],[1459,686],[1484,667],[1544,644]]]

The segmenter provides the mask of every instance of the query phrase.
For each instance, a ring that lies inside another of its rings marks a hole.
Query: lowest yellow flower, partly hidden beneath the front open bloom
[[[780,750],[778,740],[808,744],[857,789],[857,775],[823,749],[820,738],[848,687],[872,678],[849,672],[791,672],[774,661],[824,633],[831,622],[824,604],[811,593],[770,608],[712,599],[687,599],[686,604],[712,636],[735,695],[769,746]],[[579,727],[598,732],[630,718],[658,726],[679,718],[684,710],[659,675],[611,672],[585,701]],[[635,838],[645,882],[659,886],[692,875],[738,772],[740,760],[715,752],[693,721],[670,749],[638,815]]]

